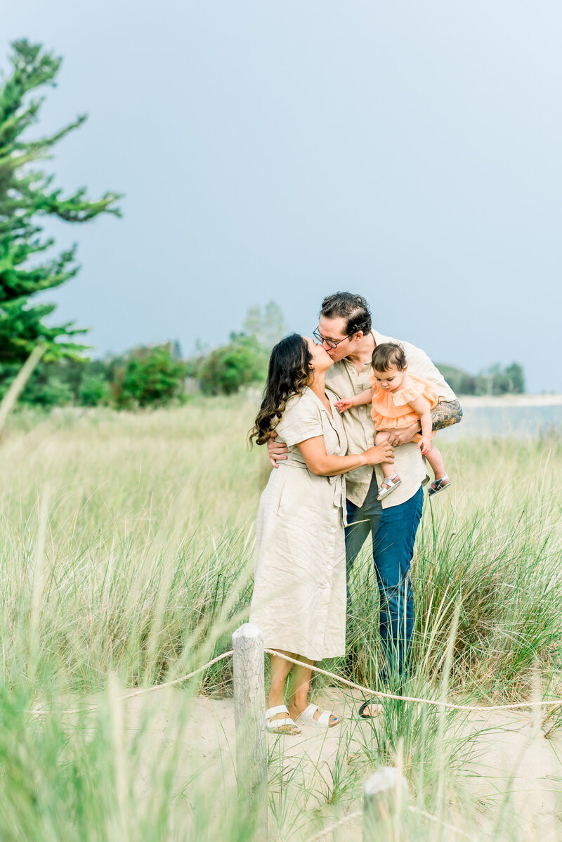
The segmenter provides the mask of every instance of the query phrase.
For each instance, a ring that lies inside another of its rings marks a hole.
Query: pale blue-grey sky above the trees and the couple
[[[562,392],[558,0],[3,4],[64,64],[38,131],[125,217],[53,226],[82,272],[50,293],[96,353],[218,344],[270,299],[311,333],[322,296],[476,371]],[[5,61],[2,61],[5,67]]]

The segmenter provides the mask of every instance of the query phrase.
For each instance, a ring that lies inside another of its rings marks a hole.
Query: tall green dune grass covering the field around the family
[[[117,686],[175,679],[230,648],[247,619],[253,521],[269,472],[262,449],[247,451],[252,413],[244,399],[201,399],[151,413],[10,419],[0,445],[3,839],[238,838],[231,796],[223,793],[220,820],[216,804],[208,816],[202,809],[197,769],[181,798],[170,795],[173,753],[164,770],[155,766],[145,808],[135,807],[138,793],[124,781],[144,761],[140,743],[124,742],[114,700]],[[444,432],[439,446],[454,487],[426,500],[418,533],[409,689],[473,703],[554,697],[562,690],[562,439],[453,447]],[[360,561],[348,657],[328,669],[374,686],[378,605],[368,548]],[[230,661],[199,687],[229,695]],[[192,682],[190,693],[197,689]],[[93,718],[29,715],[96,691],[109,704]],[[448,814],[464,804],[461,720],[387,705],[363,755],[371,766],[399,757],[420,802]],[[555,733],[559,714],[548,722]],[[304,839],[284,801],[282,755],[275,762],[278,838]],[[321,799],[328,813],[313,811],[310,828],[360,791],[361,775],[343,786],[338,768]],[[464,805],[465,823],[474,807]],[[494,825],[496,838],[504,831]],[[405,824],[401,838],[437,839],[432,832]]]

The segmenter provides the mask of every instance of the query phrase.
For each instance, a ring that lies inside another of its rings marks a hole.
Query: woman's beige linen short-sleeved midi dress
[[[345,480],[317,477],[296,446],[323,435],[326,453],[345,456],[342,418],[308,387],[292,397],[276,432],[289,447],[262,493],[256,525],[250,622],[266,647],[320,661],[345,654]]]

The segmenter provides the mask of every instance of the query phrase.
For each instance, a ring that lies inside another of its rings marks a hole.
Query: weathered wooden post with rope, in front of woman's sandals
[[[245,623],[232,635],[234,717],[236,722],[236,781],[247,822],[268,826],[268,743],[265,736],[263,636]]]

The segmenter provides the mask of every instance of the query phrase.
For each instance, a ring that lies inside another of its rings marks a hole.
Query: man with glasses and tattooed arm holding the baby
[[[337,292],[322,301],[314,335],[334,360],[334,365],[326,372],[326,386],[330,386],[338,397],[352,397],[369,388],[375,347],[398,341],[372,329],[367,301],[350,292]],[[408,370],[439,387],[440,401],[432,412],[433,429],[457,424],[463,413],[448,383],[421,349],[407,342],[400,344],[406,352]],[[342,418],[348,453],[360,453],[373,445],[374,424],[368,407],[350,408]],[[394,430],[391,435],[395,468],[402,482],[388,497],[377,499],[379,485],[384,479],[381,466],[374,469],[359,467],[346,476],[347,572],[353,568],[370,532],[380,592],[379,628],[385,656],[380,678],[398,687],[406,676],[406,656],[413,629],[414,608],[408,573],[422,516],[422,486],[429,479],[422,454],[412,441],[420,429],[420,424],[416,423],[407,429]],[[287,458],[287,452],[284,443],[276,442],[273,434],[268,442],[268,453],[275,467],[278,460]],[[359,712],[368,717],[374,715],[376,709],[376,705],[365,703]]]

